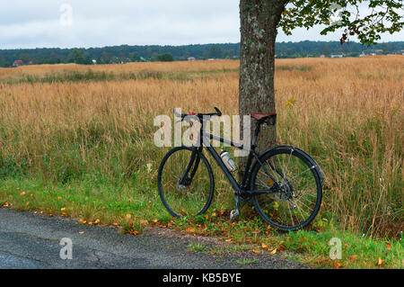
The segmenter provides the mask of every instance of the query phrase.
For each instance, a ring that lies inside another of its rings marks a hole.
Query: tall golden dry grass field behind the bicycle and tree
[[[326,177],[317,226],[402,237],[404,57],[276,66],[278,142],[303,148]],[[127,213],[167,217],[155,183],[167,149],[154,146],[154,116],[214,106],[237,114],[238,67],[215,60],[0,68],[0,203],[107,223]],[[212,208],[230,209],[232,191],[215,177]]]

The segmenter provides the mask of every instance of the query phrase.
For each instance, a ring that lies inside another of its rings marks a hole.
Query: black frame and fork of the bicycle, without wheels
[[[220,168],[222,169],[222,171],[224,172],[224,175],[227,177],[227,179],[229,180],[230,184],[232,184],[232,187],[236,193],[236,195],[243,195],[243,194],[262,194],[262,193],[277,193],[277,179],[271,175],[271,173],[268,172],[267,167],[259,160],[259,154],[255,151],[255,148],[257,148],[257,139],[258,139],[258,135],[259,135],[259,130],[260,130],[260,126],[261,124],[263,124],[264,121],[258,121],[257,123],[257,127],[256,130],[254,132],[254,137],[252,139],[252,144],[251,144],[251,148],[247,148],[244,147],[243,145],[239,144],[239,143],[235,143],[230,139],[224,139],[222,137],[213,135],[211,133],[207,133],[205,132],[205,121],[201,122],[201,128],[199,131],[199,145],[197,147],[193,147],[192,148],[192,154],[191,154],[191,158],[189,160],[189,164],[187,166],[187,170],[185,172],[185,174],[183,175],[183,177],[180,180],[180,184],[184,184],[187,185],[190,183],[190,181],[192,181],[193,176],[195,175],[197,169],[198,169],[198,164],[199,164],[199,157],[197,156],[199,152],[202,152],[202,149],[205,147],[207,148],[207,150],[209,151],[209,153],[212,155],[212,157],[214,157],[215,162],[218,166],[220,166]],[[227,169],[227,167],[224,165],[224,162],[222,160],[222,157],[220,157],[215,148],[212,147],[212,145],[210,144],[210,140],[211,139],[215,139],[218,140],[222,143],[226,143],[231,145],[234,148],[239,148],[242,150],[246,150],[249,151],[249,156],[247,159],[247,165],[246,168],[244,170],[243,176],[242,176],[242,184],[239,184],[236,179],[234,178],[234,176],[232,175],[232,173]],[[204,145],[204,143],[209,143],[207,146]],[[255,157],[255,159],[257,160],[257,162],[259,163],[260,166],[262,166],[264,172],[274,181],[275,184],[273,184],[268,190],[250,190],[249,184],[250,184],[250,168],[252,165],[252,160]],[[194,165],[194,161],[195,165]],[[268,163],[269,164],[269,163]],[[189,176],[189,172],[191,167],[194,166],[194,169],[191,172],[191,175]],[[269,166],[271,166],[269,164]],[[280,174],[275,167],[271,166],[271,168],[277,172],[277,174],[281,175],[281,177],[283,177],[282,174]]]

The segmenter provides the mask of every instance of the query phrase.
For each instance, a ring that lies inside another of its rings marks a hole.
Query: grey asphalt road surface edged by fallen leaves
[[[71,238],[73,259],[60,258],[61,238]],[[250,251],[224,256],[187,251],[190,242],[201,240],[206,240],[206,246],[220,241],[166,229],[150,229],[140,236],[124,235],[117,228],[87,226],[72,219],[0,208],[0,268],[304,268],[279,256],[255,255]],[[236,263],[246,258],[255,263]]]

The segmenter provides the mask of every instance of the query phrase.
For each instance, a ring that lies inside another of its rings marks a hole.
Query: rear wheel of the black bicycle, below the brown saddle
[[[260,158],[251,175],[251,190],[269,189],[276,193],[254,194],[256,210],[269,225],[284,231],[303,229],[316,217],[321,206],[321,177],[307,155],[297,149],[276,148]]]

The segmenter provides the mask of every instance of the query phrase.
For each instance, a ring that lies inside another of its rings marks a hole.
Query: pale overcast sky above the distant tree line
[[[67,5],[66,5],[67,4]],[[70,17],[71,15],[71,17]],[[0,49],[240,41],[238,0],[2,0]],[[338,40],[321,27],[277,41]],[[382,41],[404,40],[404,31]]]

